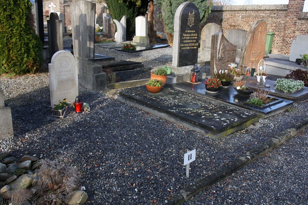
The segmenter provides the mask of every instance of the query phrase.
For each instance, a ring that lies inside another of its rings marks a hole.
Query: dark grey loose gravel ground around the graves
[[[171,48],[166,48],[131,55],[106,50],[111,56],[119,54],[123,59],[143,62],[146,58],[146,62],[153,65],[162,63],[156,59],[171,56],[170,51]],[[5,102],[11,107],[15,135],[0,139],[0,150],[11,151],[15,157],[36,155],[76,167],[81,172],[81,185],[86,187],[89,196],[86,204],[95,205],[165,204],[168,196],[179,193],[184,185],[308,115],[308,102],[295,102],[288,111],[260,119],[242,131],[215,140],[121,102],[114,98],[115,90],[95,92],[79,85],[79,95],[83,102],[89,103],[91,112],[71,112],[59,119],[51,117],[47,73],[17,78],[2,76],[1,82]],[[306,203],[307,187],[300,183],[307,181],[307,135],[295,137],[284,147],[186,204],[223,204],[225,201],[278,204],[275,202],[284,198],[294,204]],[[197,158],[190,165],[190,179],[187,179],[183,155],[193,149],[197,149]],[[271,191],[279,191],[279,196]]]

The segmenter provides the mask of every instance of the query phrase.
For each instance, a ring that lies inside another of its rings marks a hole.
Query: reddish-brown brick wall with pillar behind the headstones
[[[200,32],[207,23],[220,25],[224,34],[231,28],[249,31],[253,22],[264,19],[267,30],[275,33],[272,52],[289,54],[292,40],[297,35],[308,34],[308,12],[302,12],[303,6],[304,0],[289,0],[289,4],[279,5],[213,6],[206,22],[200,26]],[[156,8],[155,12],[160,11]],[[159,20],[155,21],[162,25]],[[160,26],[154,28],[164,31]]]

